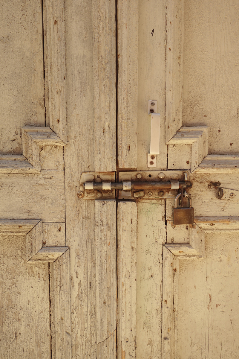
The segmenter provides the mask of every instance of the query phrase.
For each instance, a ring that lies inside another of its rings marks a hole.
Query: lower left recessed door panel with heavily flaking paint
[[[51,358],[49,273],[26,262],[25,236],[0,236],[2,358]]]

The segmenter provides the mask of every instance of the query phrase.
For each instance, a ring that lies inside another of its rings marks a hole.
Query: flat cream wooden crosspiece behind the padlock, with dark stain
[[[238,202],[216,198],[218,187],[239,190],[237,173],[197,173],[190,174],[192,187],[187,192],[192,197],[195,217],[238,216]],[[166,219],[172,220],[173,200],[166,200]]]

